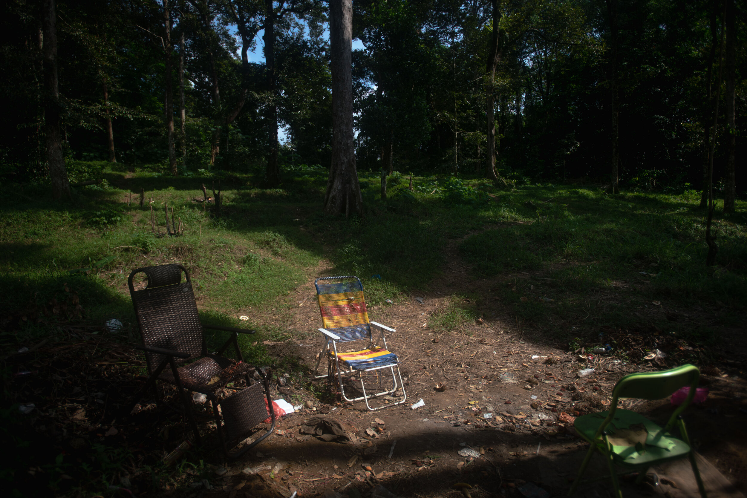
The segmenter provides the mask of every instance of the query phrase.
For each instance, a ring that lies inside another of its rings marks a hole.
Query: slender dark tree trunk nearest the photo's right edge
[[[737,181],[734,172],[734,156],[737,148],[737,128],[734,119],[734,90],[737,79],[737,10],[734,0],[726,0],[726,129],[728,131],[728,152],[726,159],[726,192],[724,193],[724,212],[734,212],[734,196],[737,194]]]

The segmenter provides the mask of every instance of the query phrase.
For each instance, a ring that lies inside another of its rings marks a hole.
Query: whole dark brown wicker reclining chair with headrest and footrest
[[[143,290],[134,290],[133,277],[145,273],[148,285]],[[182,272],[186,281],[182,282]],[[253,330],[234,327],[204,326],[199,321],[197,305],[192,291],[189,272],[181,264],[167,264],[160,267],[138,268],[128,278],[132,304],[134,305],[143,345],[136,346],[145,352],[150,377],[140,393],[155,387],[156,380],[175,385],[185,406],[185,414],[196,441],[200,441],[199,429],[191,410],[192,398],[186,390],[193,390],[208,396],[223,451],[231,458],[237,458],[248,449],[267,438],[275,430],[276,417],[270,399],[270,372],[251,367],[244,363],[244,356],[238,346],[238,334],[253,334]],[[214,354],[208,354],[203,329],[231,332],[231,337]],[[223,352],[233,345],[238,361],[223,357]],[[178,360],[175,358],[179,358]],[[181,367],[177,363],[185,363]],[[166,367],[170,367],[167,369]],[[252,384],[251,376],[260,373],[262,382]],[[219,400],[216,391],[229,382],[244,377],[247,388]],[[263,396],[264,387],[264,396]],[[157,391],[158,392],[158,391]],[[264,399],[267,399],[265,402]],[[140,399],[136,399],[137,403]],[[220,405],[220,410],[218,406]],[[230,442],[251,432],[252,428],[267,419],[270,414],[272,426],[267,433],[238,452],[230,453]],[[221,423],[223,414],[223,423]],[[226,432],[226,435],[223,433]]]

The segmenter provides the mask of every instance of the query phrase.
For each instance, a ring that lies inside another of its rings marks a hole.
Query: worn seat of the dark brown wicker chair
[[[208,394],[219,387],[224,387],[232,379],[243,376],[250,368],[243,361],[233,361],[217,355],[207,355],[176,370],[179,372],[179,379],[182,380],[185,389]],[[176,384],[171,370],[164,369],[158,379]]]

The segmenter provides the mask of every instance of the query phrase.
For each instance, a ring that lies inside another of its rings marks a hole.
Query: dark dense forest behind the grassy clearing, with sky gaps
[[[166,174],[176,164],[179,175],[254,171],[269,186],[282,181],[273,169],[329,166],[325,2],[81,0],[56,7],[71,181],[84,168],[76,161],[149,165]],[[353,8],[353,37],[364,46],[353,52],[359,170],[490,176],[492,93],[498,175],[608,183],[616,89],[621,186],[700,190],[719,93],[716,196],[728,190],[731,137],[737,196],[743,192],[742,2],[360,0]],[[48,176],[40,9],[26,0],[0,7],[4,181]],[[489,78],[494,19],[498,65]],[[732,25],[730,42],[722,32]],[[267,63],[249,61],[257,43]],[[278,127],[287,136],[281,144]]]

